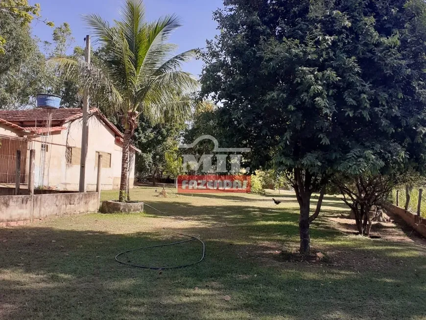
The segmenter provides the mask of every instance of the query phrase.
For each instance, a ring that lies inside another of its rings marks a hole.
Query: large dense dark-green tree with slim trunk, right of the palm
[[[423,0],[225,0],[202,93],[252,169],[288,173],[301,252],[334,172],[416,167],[424,150]],[[310,212],[312,193],[321,192]]]

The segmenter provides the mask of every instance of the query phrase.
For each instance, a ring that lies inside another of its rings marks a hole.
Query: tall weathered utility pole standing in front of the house
[[[86,63],[90,65],[90,36],[86,36],[86,51],[84,54]],[[87,159],[87,145],[89,138],[89,91],[84,90],[83,96],[83,123],[82,123],[82,134],[81,134],[81,158],[80,158],[80,185],[78,187],[79,192],[86,192],[86,159]]]

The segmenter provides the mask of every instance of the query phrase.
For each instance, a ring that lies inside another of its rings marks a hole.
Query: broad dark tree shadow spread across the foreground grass
[[[279,225],[250,225],[240,233],[267,240],[279,229]],[[186,231],[202,233],[203,228]],[[163,233],[2,228],[0,239],[6,242],[1,243],[0,315],[2,319],[207,320],[371,319],[372,314],[376,319],[413,319],[424,314],[425,259],[400,256],[407,246],[386,244],[367,252],[377,255],[385,250],[391,260],[408,265],[406,272],[359,273],[327,266],[294,268],[285,263],[267,266],[253,259],[252,252],[246,253],[248,247],[256,251],[260,246],[239,244],[236,231],[221,233],[222,238],[208,237],[203,263],[159,272],[120,265],[114,256],[124,249],[170,241]],[[145,250],[126,259],[177,264],[196,258],[199,249],[191,242]],[[225,301],[224,295],[230,295],[231,301]],[[364,301],[362,308],[358,301]]]

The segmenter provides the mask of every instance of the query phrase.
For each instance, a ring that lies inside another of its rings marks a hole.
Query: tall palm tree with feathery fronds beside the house
[[[97,14],[83,17],[101,48],[102,63],[54,57],[49,64],[91,95],[103,97],[103,109],[122,116],[124,141],[119,201],[129,194],[129,154],[131,138],[142,115],[152,124],[188,119],[208,107],[190,97],[199,89],[198,81],[182,71],[182,63],[195,50],[173,55],[176,45],[168,43],[180,20],[175,15],[148,22],[142,0],[126,0],[120,20],[111,26]]]

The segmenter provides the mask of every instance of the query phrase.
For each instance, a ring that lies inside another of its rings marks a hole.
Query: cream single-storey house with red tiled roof
[[[0,183],[14,184],[16,150],[21,150],[21,183],[28,181],[29,150],[35,149],[36,187],[78,190],[80,178],[83,110],[27,109],[0,111]],[[118,189],[121,175],[123,135],[99,110],[89,113],[86,160],[88,191],[96,188],[98,154],[103,155],[103,190]],[[135,152],[130,154],[130,187],[133,187]]]

